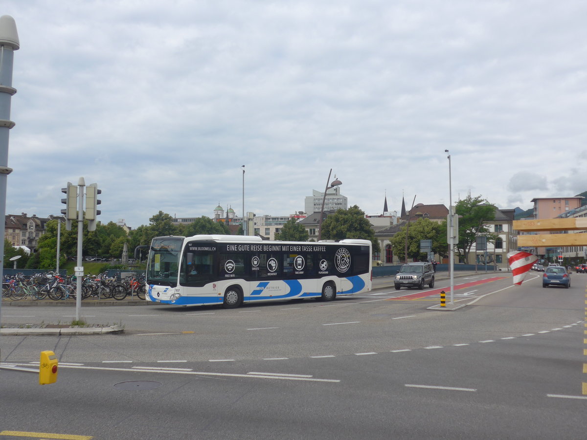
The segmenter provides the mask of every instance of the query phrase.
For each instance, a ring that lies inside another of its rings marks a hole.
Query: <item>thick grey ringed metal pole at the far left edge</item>
[[[14,127],[10,120],[10,104],[16,89],[12,87],[12,63],[14,51],[20,48],[18,32],[14,18],[9,15],[0,17],[0,236],[4,238],[6,218],[6,185],[8,174],[12,168],[8,167],[8,133]],[[0,251],[0,281],[4,280],[4,241]],[[2,298],[0,297],[0,317],[2,316]],[[1,318],[0,318],[1,327]]]

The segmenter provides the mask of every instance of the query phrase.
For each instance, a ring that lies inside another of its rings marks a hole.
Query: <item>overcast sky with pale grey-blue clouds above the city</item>
[[[97,182],[103,223],[304,209],[328,172],[380,214],[587,190],[585,0],[4,0],[6,213]]]

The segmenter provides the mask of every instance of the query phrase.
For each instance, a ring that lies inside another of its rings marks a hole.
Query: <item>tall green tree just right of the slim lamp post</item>
[[[459,216],[457,253],[468,261],[471,246],[477,240],[477,236],[487,236],[488,240],[494,238],[483,222],[495,218],[495,207],[480,195],[477,197],[468,195],[467,198],[457,202],[455,211]],[[446,222],[444,225],[446,227]]]

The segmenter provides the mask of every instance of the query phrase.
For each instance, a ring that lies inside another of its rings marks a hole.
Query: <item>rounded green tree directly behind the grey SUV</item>
[[[404,259],[406,253],[407,223],[389,239],[394,255]],[[426,261],[428,255],[420,252],[420,240],[432,240],[432,252],[446,256],[446,228],[427,218],[419,218],[410,223],[407,240],[407,256],[415,260]]]

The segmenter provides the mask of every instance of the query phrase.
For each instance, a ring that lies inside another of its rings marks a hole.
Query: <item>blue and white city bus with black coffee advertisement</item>
[[[371,290],[371,242],[264,241],[255,236],[156,237],[147,300],[177,306],[353,295]]]

